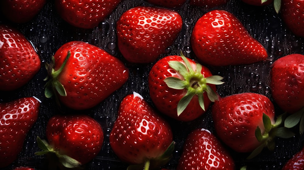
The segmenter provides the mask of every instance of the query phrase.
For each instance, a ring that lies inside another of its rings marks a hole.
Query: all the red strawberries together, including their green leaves
[[[263,6],[274,4],[288,29],[304,37],[304,1],[242,0]],[[1,12],[11,23],[33,19],[46,3],[54,3],[64,21],[80,29],[92,29],[106,19],[122,0],[3,0]],[[284,114],[276,115],[272,101],[252,92],[221,97],[217,86],[223,77],[212,75],[209,66],[249,65],[268,59],[268,51],[244,25],[226,10],[209,10],[195,23],[191,49],[197,61],[180,55],[160,57],[183,29],[183,16],[174,9],[188,3],[211,9],[227,0],[147,0],[153,5],[126,9],[116,22],[117,45],[122,60],[97,46],[69,41],[45,63],[44,96],[70,110],[97,107],[129,80],[126,63],[153,66],[147,89],[152,103],[132,92],[120,102],[109,144],[112,151],[130,166],[128,169],[160,169],[172,158],[174,129],[170,119],[190,122],[209,109],[214,130],[196,128],[185,141],[176,165],[182,169],[235,169],[229,147],[237,153],[258,155],[264,147],[275,148],[276,137],[295,136],[290,128],[299,124],[304,131],[304,56],[290,54],[272,64],[269,72],[271,95]],[[3,22],[3,21],[2,21]],[[0,22],[0,90],[14,91],[43,71],[40,56],[26,37],[13,26]],[[0,168],[8,167],[22,151],[26,135],[40,116],[44,103],[23,97],[0,104]],[[60,110],[60,109],[59,109]],[[73,111],[71,111],[73,112]],[[81,111],[80,111],[81,112]],[[275,120],[276,119],[276,120]],[[102,150],[104,132],[100,122],[87,114],[55,114],[46,124],[45,138],[37,136],[36,155],[48,155],[49,168],[85,168]],[[301,169],[300,151],[284,166]],[[54,163],[56,162],[56,163]],[[53,164],[54,163],[54,164]],[[24,169],[23,167],[17,169]],[[30,168],[29,168],[30,169]]]

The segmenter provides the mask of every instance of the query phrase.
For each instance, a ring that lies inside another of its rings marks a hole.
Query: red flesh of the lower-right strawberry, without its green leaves
[[[251,152],[261,143],[255,137],[257,126],[264,133],[263,113],[274,123],[274,106],[268,97],[241,93],[223,97],[212,106],[214,127],[219,138],[237,152]]]

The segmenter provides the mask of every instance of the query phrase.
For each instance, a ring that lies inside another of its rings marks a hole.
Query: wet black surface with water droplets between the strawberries
[[[124,96],[135,91],[141,94],[143,98],[153,106],[149,97],[147,77],[154,63],[145,65],[128,63],[119,53],[116,44],[117,19],[119,19],[119,16],[122,15],[123,12],[138,5],[153,6],[145,1],[125,0],[119,4],[116,10],[113,11],[104,22],[99,24],[98,28],[87,30],[72,27],[62,20],[54,8],[53,1],[48,1],[37,16],[25,24],[14,24],[4,18],[0,18],[0,23],[9,24],[17,28],[33,43],[43,62],[49,63],[51,56],[54,55],[56,50],[64,43],[72,40],[80,40],[105,49],[110,54],[121,59],[130,70],[130,78],[122,88],[89,110],[75,111],[64,108],[64,113],[62,113],[56,106],[53,98],[45,98],[43,86],[46,82],[43,81],[43,79],[47,76],[47,72],[44,66],[41,67],[40,72],[24,87],[11,92],[1,92],[0,102],[29,96],[36,96],[42,101],[40,116],[29,132],[22,152],[18,159],[10,166],[3,168],[4,170],[18,166],[28,166],[39,170],[47,169],[45,157],[34,155],[36,151],[39,151],[36,137],[45,137],[47,121],[54,114],[76,113],[88,114],[95,118],[102,125],[105,134],[102,150],[94,160],[85,166],[85,169],[126,169],[127,164],[119,161],[109,144],[109,134],[116,119],[119,104]],[[243,66],[209,67],[214,75],[224,77],[223,81],[226,82],[223,85],[217,86],[219,95],[224,97],[236,93],[254,92],[263,94],[273,101],[269,87],[270,66],[276,59],[287,54],[304,54],[304,39],[294,36],[286,29],[280,15],[276,14],[272,4],[264,7],[255,7],[244,4],[240,0],[230,0],[228,4],[213,9],[227,10],[236,15],[250,34],[267,49],[269,54],[268,60],[261,63]],[[183,18],[183,29],[174,44],[167,49],[167,53],[161,55],[159,59],[168,55],[179,55],[180,50],[182,50],[186,56],[195,59],[189,41],[192,29],[199,17],[212,9],[200,9],[190,6],[187,1],[181,8],[175,10],[178,11]],[[276,106],[276,115],[278,116],[279,114],[282,114],[282,111]],[[168,169],[176,168],[183,142],[190,131],[197,127],[204,127],[215,133],[210,110],[202,117],[190,122],[178,122],[168,117],[165,118],[171,124],[174,141],[177,143],[173,158],[164,166]],[[277,138],[274,151],[264,149],[260,155],[251,160],[246,160],[248,154],[240,154],[232,150],[229,151],[236,162],[237,169],[247,165],[248,169],[276,170],[281,169],[285,162],[298,152],[300,148],[302,148],[302,139],[299,135],[296,135],[290,139]]]

